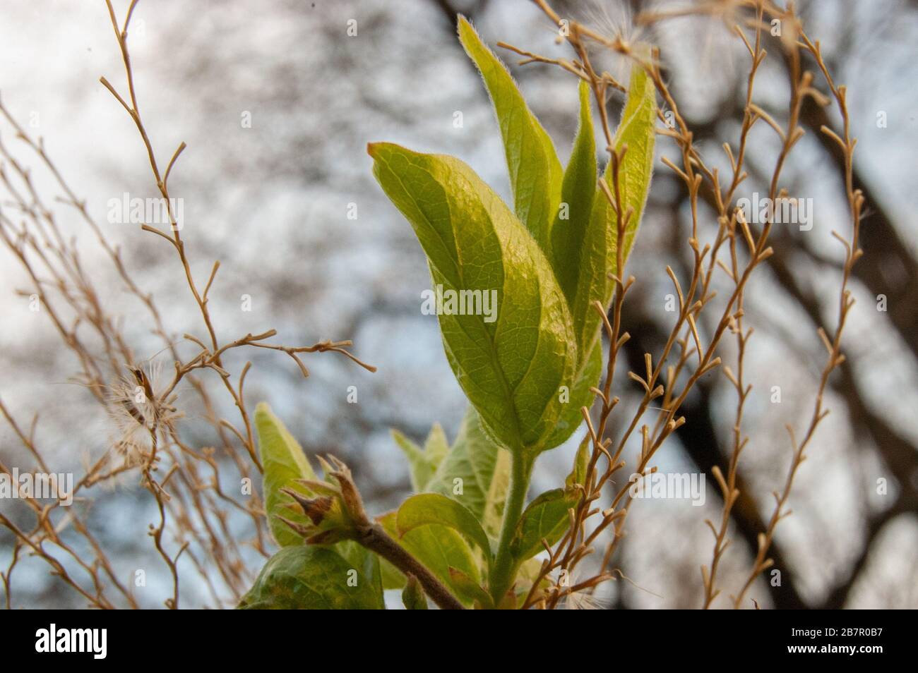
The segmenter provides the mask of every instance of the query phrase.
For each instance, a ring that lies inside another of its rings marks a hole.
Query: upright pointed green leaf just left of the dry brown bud
[[[311,496],[312,493],[298,484],[297,480],[315,480],[316,473],[297,440],[265,403],[255,407],[255,428],[258,431],[258,447],[264,469],[264,508],[268,516],[268,527],[278,545],[301,545],[303,538],[278,517],[283,516],[297,524],[307,524],[306,514],[299,507],[288,507],[294,504],[294,500],[282,493],[281,489],[289,488]]]

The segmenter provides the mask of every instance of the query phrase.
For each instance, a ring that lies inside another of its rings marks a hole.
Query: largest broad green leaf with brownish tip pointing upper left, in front
[[[375,143],[376,180],[414,227],[443,292],[497,296],[493,322],[441,312],[447,359],[487,432],[511,450],[538,452],[575,381],[577,345],[564,293],[542,250],[465,163]]]

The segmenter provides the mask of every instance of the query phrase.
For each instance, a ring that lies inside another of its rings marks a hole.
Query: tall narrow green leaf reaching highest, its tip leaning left
[[[465,17],[459,17],[459,41],[481,72],[498,116],[514,210],[547,252],[562,183],[561,162],[552,139],[530,112],[507,68]]]

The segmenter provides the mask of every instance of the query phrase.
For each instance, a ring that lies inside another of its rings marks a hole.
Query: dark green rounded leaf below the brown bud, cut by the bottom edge
[[[350,580],[350,581],[349,581]],[[382,610],[379,585],[323,546],[287,546],[268,559],[242,610]]]

